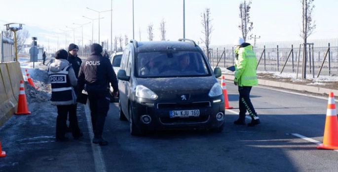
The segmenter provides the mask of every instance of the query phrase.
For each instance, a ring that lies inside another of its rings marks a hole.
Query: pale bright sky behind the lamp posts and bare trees
[[[238,5],[241,0],[186,0],[186,38],[200,42],[201,13],[206,7],[211,10],[214,31],[211,37],[212,45],[231,44],[241,36],[238,29]],[[78,27],[73,23],[91,22],[82,16],[98,18],[97,11],[111,9],[112,0],[0,0],[1,28],[6,23],[23,23],[32,36],[38,37],[38,44],[53,48],[57,46],[59,35],[60,48],[73,43],[73,31],[67,32],[67,42],[62,30],[71,29],[66,26]],[[337,0],[315,0],[313,19],[317,28],[309,39],[337,38],[338,22],[335,14],[338,9]],[[113,37],[127,34],[133,37],[132,0],[113,0]],[[250,34],[261,36],[258,42],[300,40],[301,3],[300,0],[253,0],[251,20],[254,29]],[[111,12],[103,12],[100,17],[100,41],[111,39]],[[154,40],[160,40],[160,22],[166,22],[166,39],[177,40],[183,37],[183,0],[134,0],[135,39],[147,40],[147,26],[154,27]],[[99,37],[98,20],[83,26],[84,43]],[[249,42],[251,40],[248,40]],[[81,28],[75,29],[75,43],[81,44]]]

